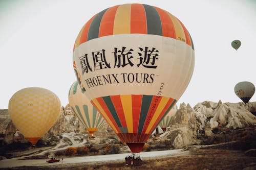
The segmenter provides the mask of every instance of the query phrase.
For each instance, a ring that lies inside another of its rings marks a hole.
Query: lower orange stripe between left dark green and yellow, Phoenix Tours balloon
[[[120,95],[111,95],[110,98],[115,107],[116,113],[119,117],[122,127],[127,127]]]

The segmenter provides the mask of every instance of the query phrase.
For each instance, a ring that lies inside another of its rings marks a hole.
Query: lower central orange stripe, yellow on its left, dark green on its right
[[[142,95],[132,95],[133,133],[138,133]]]

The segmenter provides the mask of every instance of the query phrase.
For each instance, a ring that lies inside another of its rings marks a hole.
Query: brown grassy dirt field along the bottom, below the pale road
[[[189,154],[143,159],[140,166],[125,165],[123,161],[89,162],[53,166],[15,167],[6,169],[256,169],[256,157],[249,157],[244,151],[220,149],[194,149]]]

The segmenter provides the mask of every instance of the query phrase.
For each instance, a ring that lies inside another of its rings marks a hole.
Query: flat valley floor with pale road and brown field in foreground
[[[92,159],[95,159],[94,161],[90,161],[89,159],[91,158],[89,157],[73,157],[65,158],[63,162],[60,161],[50,164],[46,162],[41,164],[20,164],[19,167],[8,168],[7,166],[4,169],[256,169],[256,157],[246,156],[244,151],[236,150],[192,149],[190,151],[170,150],[144,152],[140,154],[143,158],[143,164],[141,166],[125,165],[123,158],[126,155],[127,154],[101,155],[102,158],[101,156],[90,156]],[[72,159],[74,159],[73,162]],[[83,161],[75,162],[75,159],[83,159]],[[0,167],[3,167],[3,161],[0,161]],[[36,162],[38,160],[30,161]]]

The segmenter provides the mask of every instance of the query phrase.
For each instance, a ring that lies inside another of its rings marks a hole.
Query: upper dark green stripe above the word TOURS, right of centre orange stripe
[[[157,10],[149,5],[143,4],[146,13],[147,34],[163,35],[162,24]]]

